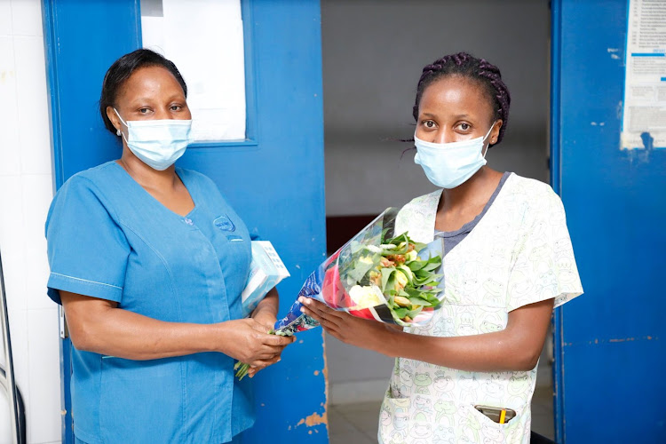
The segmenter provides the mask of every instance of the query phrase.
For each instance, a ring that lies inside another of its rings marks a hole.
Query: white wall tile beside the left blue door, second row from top
[[[21,171],[50,174],[51,134],[42,37],[14,37]]]

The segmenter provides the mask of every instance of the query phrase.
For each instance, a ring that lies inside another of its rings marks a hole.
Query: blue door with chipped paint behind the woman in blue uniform
[[[141,45],[138,0],[44,0],[55,187],[118,158],[97,103],[107,68]],[[325,255],[321,20],[318,0],[243,0],[248,137],[188,149],[179,164],[212,178],[289,268],[281,313]],[[300,335],[255,378],[258,421],[243,442],[328,442],[321,330]],[[63,442],[71,443],[69,350],[62,346]]]

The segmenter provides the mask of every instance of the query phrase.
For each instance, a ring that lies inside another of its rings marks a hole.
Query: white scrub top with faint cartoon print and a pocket
[[[396,233],[432,242],[441,190],[409,202]],[[458,337],[506,328],[509,312],[583,293],[559,196],[542,182],[511,174],[488,212],[443,260],[444,302],[417,335]],[[379,417],[384,444],[525,443],[536,367],[475,372],[398,358]],[[474,408],[511,408],[497,424]]]

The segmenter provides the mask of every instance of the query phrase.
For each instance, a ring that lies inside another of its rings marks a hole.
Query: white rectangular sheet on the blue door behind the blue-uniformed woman
[[[172,60],[187,83],[199,142],[245,139],[245,58],[239,0],[162,0],[141,17],[144,47]]]

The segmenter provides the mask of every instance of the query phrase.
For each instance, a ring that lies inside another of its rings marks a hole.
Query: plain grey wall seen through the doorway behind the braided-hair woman
[[[470,52],[500,67],[511,113],[488,165],[548,180],[547,0],[321,1],[326,211],[378,214],[435,189],[400,155],[414,134],[412,107],[424,65]],[[330,400],[384,394],[392,360],[326,337]],[[544,373],[547,376],[547,373]]]

